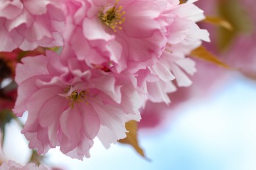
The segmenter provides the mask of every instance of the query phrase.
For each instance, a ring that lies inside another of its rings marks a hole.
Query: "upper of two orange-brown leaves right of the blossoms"
[[[229,31],[232,31],[233,29],[232,25],[228,21],[224,20],[224,18],[221,18],[219,16],[205,16],[205,19],[203,20],[203,22],[208,22],[210,24],[224,27]]]

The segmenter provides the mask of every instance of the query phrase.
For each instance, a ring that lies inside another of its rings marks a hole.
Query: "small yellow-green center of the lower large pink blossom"
[[[74,108],[74,103],[85,102],[86,105],[89,105],[89,101],[87,100],[88,97],[88,90],[81,90],[80,92],[77,92],[77,90],[75,90],[67,97],[67,99],[70,101],[68,105],[70,105],[72,109]]]

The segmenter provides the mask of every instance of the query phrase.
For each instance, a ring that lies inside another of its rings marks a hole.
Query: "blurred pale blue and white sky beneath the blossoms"
[[[63,169],[256,169],[256,82],[232,73],[232,78],[207,98],[191,101],[170,113],[160,129],[140,129],[140,145],[150,161],[131,146],[106,150],[96,140],[91,158],[73,160],[58,148],[50,150],[46,165]],[[4,153],[18,163],[30,156],[28,142],[14,122],[7,128]]]

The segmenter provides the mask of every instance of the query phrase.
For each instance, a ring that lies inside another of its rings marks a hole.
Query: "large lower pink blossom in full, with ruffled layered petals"
[[[126,136],[125,122],[140,119],[143,100],[129,77],[90,69],[68,48],[62,58],[48,51],[22,62],[13,111],[22,116],[28,110],[22,133],[39,154],[60,146],[72,158],[89,158],[96,136],[109,148]]]

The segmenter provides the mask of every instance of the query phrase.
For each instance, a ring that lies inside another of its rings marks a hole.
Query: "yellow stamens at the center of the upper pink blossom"
[[[123,18],[125,11],[122,11],[123,6],[119,5],[119,7],[117,7],[118,2],[119,0],[116,0],[114,6],[110,6],[110,3],[108,3],[108,5],[103,7],[102,12],[100,12],[100,20],[102,20],[105,25],[111,27],[115,32],[116,28],[122,29],[120,25],[125,22],[125,18]]]

